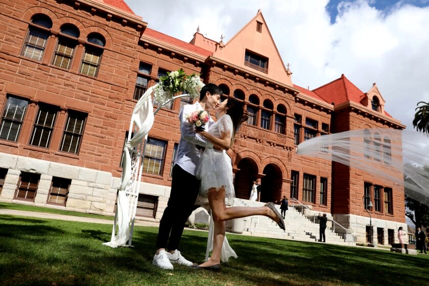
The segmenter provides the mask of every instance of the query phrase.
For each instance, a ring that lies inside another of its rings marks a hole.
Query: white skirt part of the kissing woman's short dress
[[[208,189],[225,188],[225,198],[234,198],[232,162],[225,151],[206,148],[197,167],[197,179],[201,180],[200,198],[207,198]]]

